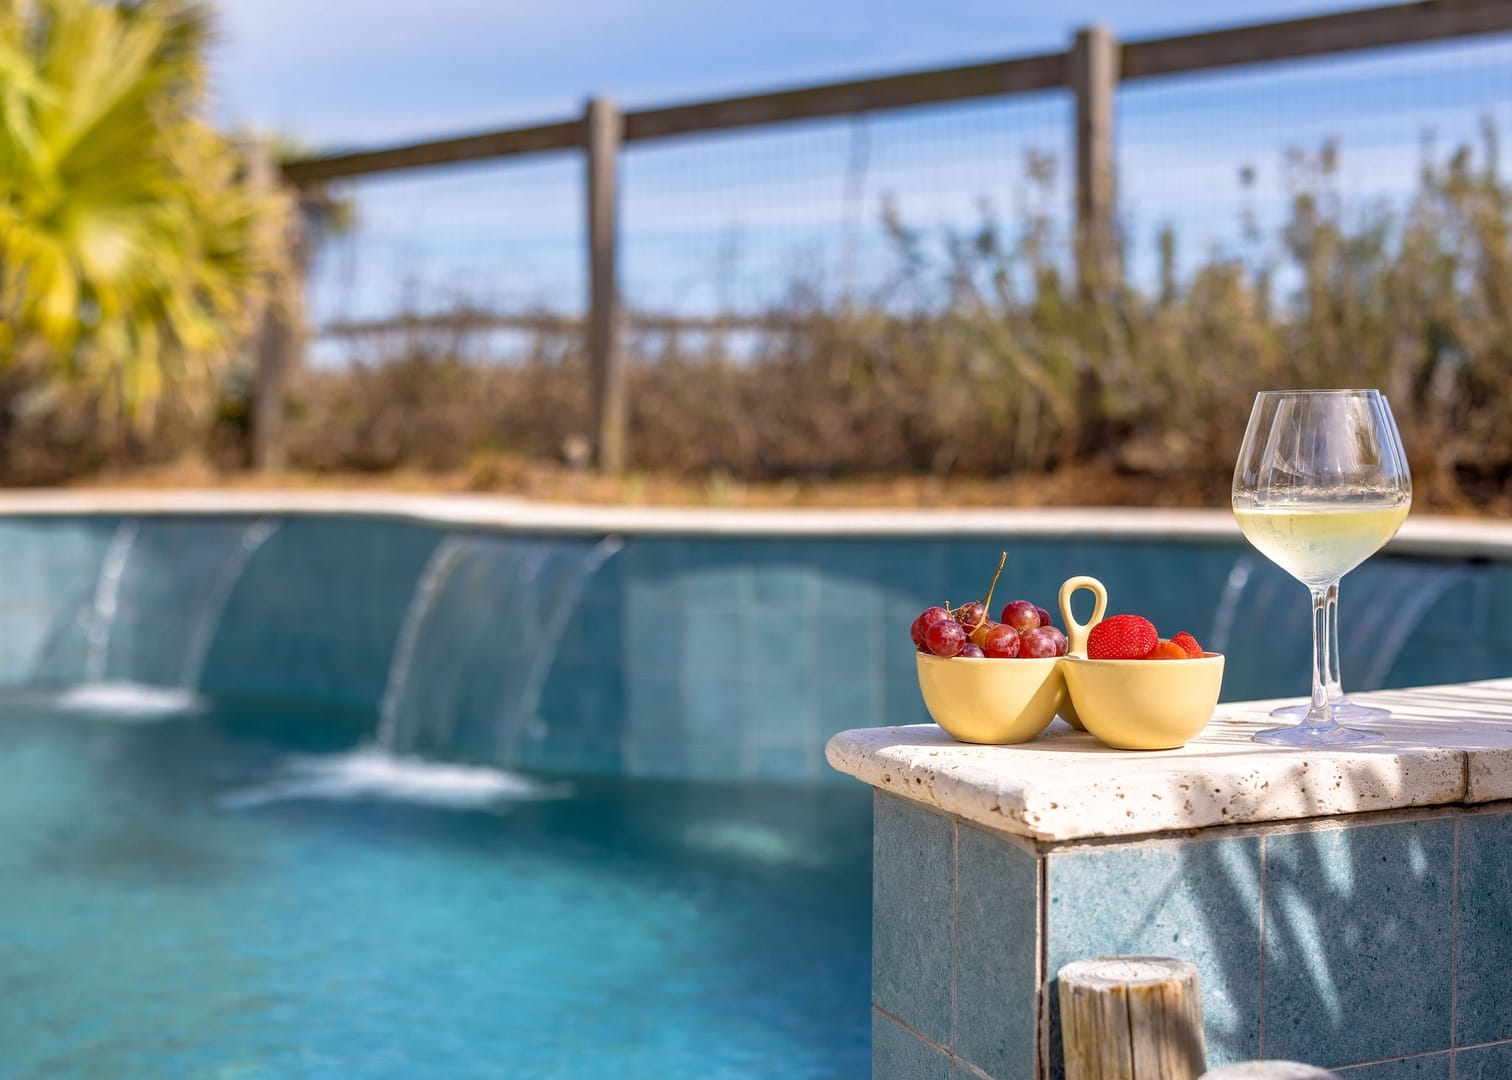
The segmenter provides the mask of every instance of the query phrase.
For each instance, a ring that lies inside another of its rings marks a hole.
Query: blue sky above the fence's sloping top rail
[[[1315,0],[221,0],[222,115],[319,147],[1315,14]]]

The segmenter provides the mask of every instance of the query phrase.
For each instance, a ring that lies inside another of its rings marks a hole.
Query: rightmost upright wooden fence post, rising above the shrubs
[[[1096,289],[1119,278],[1113,163],[1119,42],[1111,30],[1077,30],[1069,77],[1077,95],[1077,269],[1083,283]]]

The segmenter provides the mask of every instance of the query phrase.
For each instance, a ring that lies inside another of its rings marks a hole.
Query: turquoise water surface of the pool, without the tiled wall
[[[856,1077],[869,793],[0,708],[0,1075]]]

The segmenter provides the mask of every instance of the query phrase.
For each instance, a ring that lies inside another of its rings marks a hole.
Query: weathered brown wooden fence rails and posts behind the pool
[[[587,163],[584,219],[588,237],[590,303],[582,316],[479,315],[399,318],[331,324],[328,336],[375,336],[438,330],[575,331],[587,340],[594,416],[594,460],[608,472],[629,457],[624,443],[626,390],[620,371],[626,327],[676,333],[773,328],[764,318],[673,319],[626,313],[617,287],[617,162],[627,142],[732,129],[776,126],[906,109],[971,98],[1066,89],[1075,98],[1075,227],[1078,272],[1089,289],[1122,274],[1116,228],[1114,100],[1122,83],[1240,65],[1424,44],[1512,32],[1512,0],[1424,0],[1364,8],[1259,26],[1120,42],[1104,27],[1077,32],[1072,47],[1012,59],[910,71],[872,79],[780,89],[656,109],[620,110],[606,98],[582,115],[549,124],[464,135],[407,145],[287,160],[283,180],[318,189],[328,180],[398,169],[573,151]],[[789,324],[791,325],[791,324]],[[292,336],[290,348],[301,348]],[[289,369],[283,363],[281,369]],[[278,363],[271,363],[280,369]],[[274,425],[277,427],[277,425]],[[272,460],[277,454],[271,455]]]

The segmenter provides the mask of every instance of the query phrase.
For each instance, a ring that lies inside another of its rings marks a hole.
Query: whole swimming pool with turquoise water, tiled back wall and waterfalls
[[[922,718],[919,608],[1007,548],[1001,599],[1093,573],[1302,691],[1303,590],[1213,519],[454,510],[0,519],[0,1074],[865,1075],[823,746]],[[1512,670],[1504,552],[1441,548],[1346,582],[1352,688]]]

